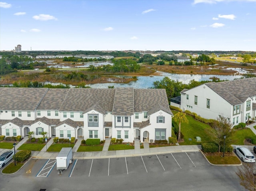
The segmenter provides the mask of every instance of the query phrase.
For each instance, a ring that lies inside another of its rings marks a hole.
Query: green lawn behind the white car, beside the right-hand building
[[[244,145],[245,139],[256,139],[256,135],[252,132],[250,128],[236,130],[234,136],[232,137],[233,145]]]

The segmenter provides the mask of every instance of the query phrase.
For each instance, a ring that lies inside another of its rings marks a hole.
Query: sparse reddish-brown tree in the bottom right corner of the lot
[[[244,163],[236,171],[240,178],[240,185],[249,191],[256,191],[256,165],[254,163]]]

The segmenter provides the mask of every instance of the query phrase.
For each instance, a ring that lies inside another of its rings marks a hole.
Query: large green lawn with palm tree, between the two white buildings
[[[176,114],[177,111],[172,110],[173,114]],[[195,120],[192,116],[186,115],[188,123],[181,123],[181,132],[184,135],[184,142],[179,143],[180,145],[196,145],[202,143],[211,142],[210,136],[206,133],[207,130],[210,130],[211,127],[208,124],[204,124]],[[199,136],[202,142],[196,141],[196,136]],[[191,139],[191,140],[189,140]]]

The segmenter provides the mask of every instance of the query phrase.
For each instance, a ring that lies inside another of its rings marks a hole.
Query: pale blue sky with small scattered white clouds
[[[0,50],[256,51],[256,0],[1,0]]]

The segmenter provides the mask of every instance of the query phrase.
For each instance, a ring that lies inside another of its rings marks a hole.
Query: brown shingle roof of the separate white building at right
[[[205,83],[232,105],[238,105],[248,97],[256,96],[256,77],[224,82]]]

